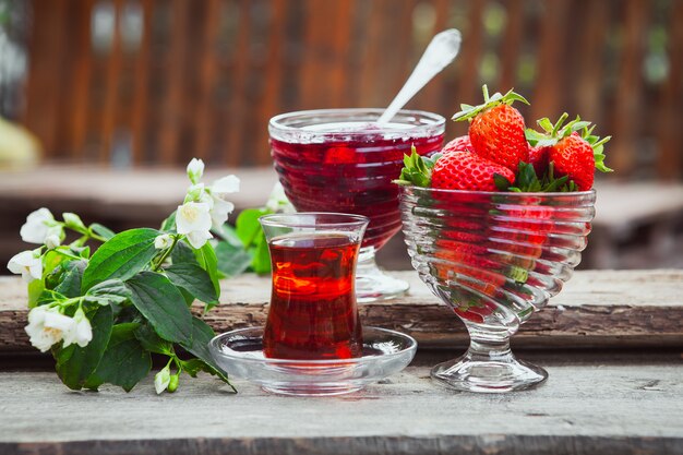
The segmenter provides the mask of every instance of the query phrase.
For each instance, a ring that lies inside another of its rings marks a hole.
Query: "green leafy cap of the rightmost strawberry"
[[[600,137],[592,134],[596,125],[589,121],[584,121],[580,117],[576,116],[576,119],[572,120],[567,124],[564,124],[568,118],[568,113],[564,112],[555,123],[551,122],[547,117],[537,121],[538,125],[544,131],[540,133],[536,130],[527,128],[525,135],[527,142],[532,147],[548,147],[553,146],[563,137],[571,135],[572,133],[578,133],[584,141],[590,144],[592,154],[596,159],[596,169],[600,172],[612,172],[604,164],[604,144],[612,139],[612,136]]]

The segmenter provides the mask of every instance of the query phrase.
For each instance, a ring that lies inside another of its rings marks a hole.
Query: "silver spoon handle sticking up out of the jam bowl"
[[[455,28],[441,32],[427,46],[412,74],[398,95],[378,119],[378,124],[387,123],[432,77],[455,59],[460,50],[460,32]]]

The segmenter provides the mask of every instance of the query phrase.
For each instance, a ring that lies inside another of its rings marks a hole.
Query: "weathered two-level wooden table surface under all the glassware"
[[[683,454],[683,271],[578,272],[513,338],[548,382],[505,395],[455,393],[429,368],[456,356],[462,323],[414,273],[410,295],[361,307],[367,325],[414,335],[400,374],[336,398],[268,395],[209,376],[157,396],[70,392],[28,355],[21,283],[0,279],[0,454]],[[267,278],[223,284],[207,321],[262,324]],[[534,350],[530,350],[532,348]]]

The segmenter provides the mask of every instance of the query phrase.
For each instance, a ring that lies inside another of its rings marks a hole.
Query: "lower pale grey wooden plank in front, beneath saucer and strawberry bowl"
[[[230,395],[207,375],[163,397],[152,375],[130,394],[73,393],[51,372],[5,372],[0,453],[680,454],[683,363],[656,357],[546,360],[544,385],[507,395],[451,392],[428,367],[337,398],[243,381]]]

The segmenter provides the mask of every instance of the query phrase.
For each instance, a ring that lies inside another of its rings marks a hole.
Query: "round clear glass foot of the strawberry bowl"
[[[439,363],[431,376],[456,391],[502,393],[535,387],[548,379],[548,372],[512,356],[502,360],[474,360],[466,354]]]

